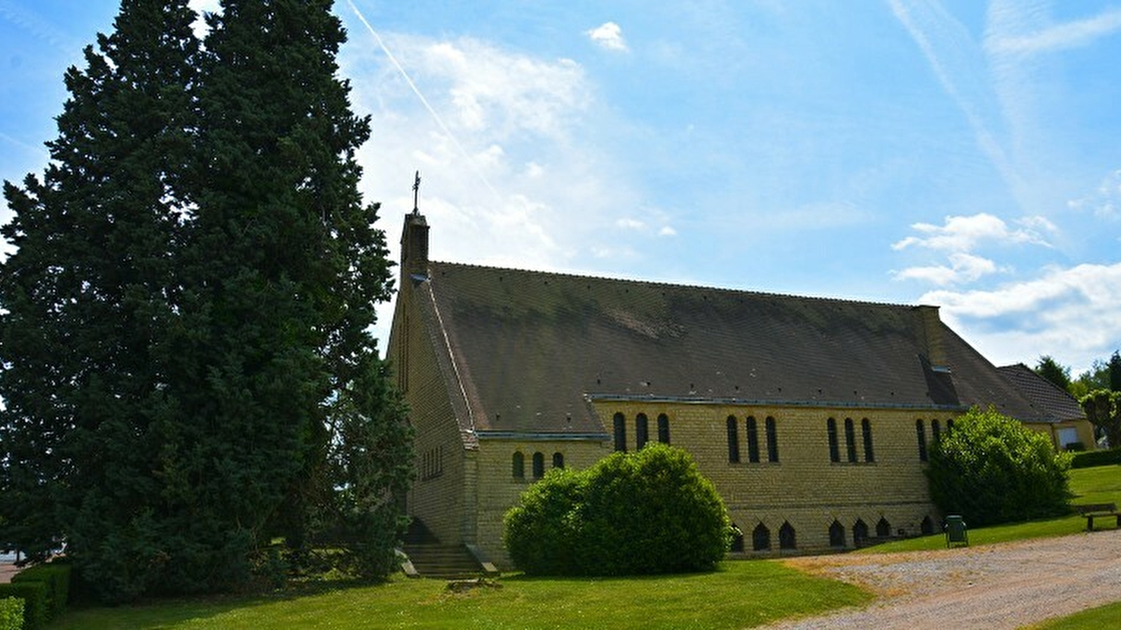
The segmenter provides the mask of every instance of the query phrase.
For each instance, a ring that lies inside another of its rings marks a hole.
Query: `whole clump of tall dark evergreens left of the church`
[[[226,0],[201,48],[186,0],[124,0],[6,185],[0,540],[65,537],[105,599],[242,584],[277,534],[391,567],[409,433],[330,9]]]

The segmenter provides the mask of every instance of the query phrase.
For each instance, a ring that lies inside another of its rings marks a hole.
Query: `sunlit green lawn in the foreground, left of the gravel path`
[[[747,628],[860,605],[872,595],[778,562],[726,562],[713,573],[631,577],[503,577],[451,594],[434,580],[303,596],[212,597],[74,610],[62,629],[280,628]]]

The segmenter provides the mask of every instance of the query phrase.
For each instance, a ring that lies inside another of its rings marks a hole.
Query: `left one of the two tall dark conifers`
[[[65,76],[40,180],[4,184],[18,249],[0,272],[0,540],[65,539],[92,584],[130,596],[159,565],[159,452],[178,178],[194,128],[186,0],[126,0]],[[117,595],[114,595],[117,596]]]

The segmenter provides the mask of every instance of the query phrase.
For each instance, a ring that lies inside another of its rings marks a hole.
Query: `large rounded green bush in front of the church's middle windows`
[[[583,472],[550,472],[507,512],[504,540],[531,574],[684,573],[711,571],[730,527],[688,453],[654,443]]]

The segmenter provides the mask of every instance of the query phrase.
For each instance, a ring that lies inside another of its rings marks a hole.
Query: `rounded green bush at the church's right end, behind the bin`
[[[1071,495],[1069,461],[1046,435],[992,408],[973,408],[930,453],[930,499],[970,527],[1062,515]]]

